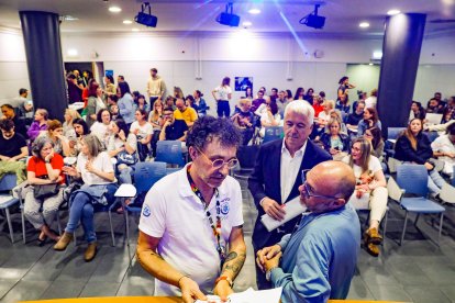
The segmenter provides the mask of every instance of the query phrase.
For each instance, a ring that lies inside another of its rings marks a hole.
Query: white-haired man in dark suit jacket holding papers
[[[290,102],[285,110],[285,139],[260,146],[254,172],[248,179],[248,189],[258,210],[253,232],[255,254],[278,243],[285,234],[291,233],[301,217],[268,232],[260,222],[260,216],[267,213],[275,220],[281,220],[285,215],[281,205],[299,197],[301,171],[332,159],[330,154],[308,139],[313,127],[313,116],[314,110],[308,102]],[[256,281],[258,289],[270,288],[257,266]]]

